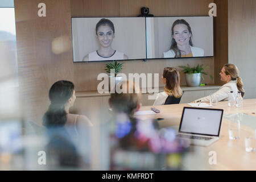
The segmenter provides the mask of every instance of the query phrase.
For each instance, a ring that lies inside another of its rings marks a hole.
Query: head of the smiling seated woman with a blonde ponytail
[[[225,83],[231,80],[237,80],[237,89],[245,93],[243,89],[242,78],[239,77],[239,70],[234,64],[225,64],[220,72],[220,79]]]

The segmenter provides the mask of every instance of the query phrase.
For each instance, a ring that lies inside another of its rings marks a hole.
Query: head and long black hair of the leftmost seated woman
[[[49,100],[51,105],[44,114],[43,124],[47,127],[63,126],[67,121],[65,107],[73,106],[76,95],[74,84],[70,81],[60,80],[55,82],[49,89]]]

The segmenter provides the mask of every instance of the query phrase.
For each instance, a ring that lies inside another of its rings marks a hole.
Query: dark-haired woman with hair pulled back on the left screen
[[[114,24],[109,20],[102,18],[96,24],[96,36],[100,43],[97,51],[84,56],[82,61],[105,61],[105,60],[127,60],[128,56],[112,48],[112,42],[115,37]]]

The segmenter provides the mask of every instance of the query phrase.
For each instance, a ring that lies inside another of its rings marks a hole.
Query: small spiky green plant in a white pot
[[[110,83],[110,78],[114,77],[115,78],[115,85],[117,85],[118,82],[123,80],[122,76],[117,76],[117,73],[119,73],[123,69],[123,63],[117,63],[117,61],[113,61],[113,63],[106,64],[105,71],[107,73],[112,73],[111,69],[114,69],[114,75],[110,74],[109,83]]]

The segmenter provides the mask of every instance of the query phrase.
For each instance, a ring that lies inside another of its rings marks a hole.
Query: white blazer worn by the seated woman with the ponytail
[[[226,83],[225,85],[221,86],[221,88],[217,92],[213,93],[213,95],[214,95],[214,98],[216,98],[218,102],[219,101],[228,101],[230,91],[233,91],[234,97],[236,98],[237,92],[238,92],[236,80],[231,80],[228,83]],[[210,96],[199,98],[195,102],[197,102],[199,100],[201,100],[201,102],[210,102]]]

